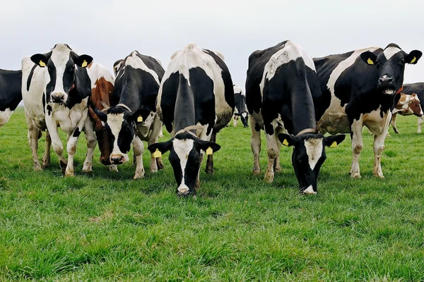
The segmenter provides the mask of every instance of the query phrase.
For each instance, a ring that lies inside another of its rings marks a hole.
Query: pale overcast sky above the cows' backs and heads
[[[24,56],[68,43],[112,71],[134,49],[166,69],[189,42],[225,56],[233,82],[245,88],[252,51],[285,39],[312,56],[394,42],[424,51],[423,1],[45,1],[2,0],[0,68],[19,69]],[[406,67],[404,82],[424,81],[424,58]]]

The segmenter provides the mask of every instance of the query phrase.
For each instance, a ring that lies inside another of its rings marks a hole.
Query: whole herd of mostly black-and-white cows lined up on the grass
[[[0,70],[0,126],[23,100],[34,169],[49,166],[53,147],[65,176],[73,176],[81,131],[88,148],[85,172],[92,171],[96,143],[100,162],[112,171],[129,161],[132,145],[134,179],[143,178],[143,141],[147,141],[150,171],[163,168],[162,154],[169,151],[177,194],[190,195],[199,188],[204,153],[206,172],[213,173],[213,152],[220,149],[216,133],[231,119],[237,126],[240,116],[252,130],[253,173],[261,173],[264,130],[265,180],[273,181],[274,172],[281,171],[281,145],[293,146],[300,192],[316,194],[325,147],[345,139],[337,133],[351,134],[353,178],[360,177],[364,126],[375,135],[373,174],[379,178],[389,124],[399,133],[396,115],[419,116],[420,133],[424,83],[403,82],[405,63],[415,64],[421,56],[420,51],[407,54],[389,44],[385,49],[370,47],[312,59],[298,44],[285,41],[249,56],[244,94],[232,84],[223,55],[193,43],[172,54],[166,71],[158,59],[133,51],[114,63],[114,75],[91,56],[56,44],[45,54],[25,57],[21,71]],[[163,125],[172,138],[158,142]],[[58,128],[68,135],[67,160]],[[37,148],[42,131],[46,147],[40,164]]]

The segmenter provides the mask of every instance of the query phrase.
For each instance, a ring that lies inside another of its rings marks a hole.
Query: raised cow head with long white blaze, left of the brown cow
[[[88,55],[78,56],[67,44],[56,44],[49,53],[35,54],[31,60],[42,68],[47,67],[47,102],[62,104],[78,84],[76,66],[86,68],[93,58]]]

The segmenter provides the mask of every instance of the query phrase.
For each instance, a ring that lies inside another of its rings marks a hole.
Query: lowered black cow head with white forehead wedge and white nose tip
[[[300,191],[305,194],[317,194],[319,168],[326,159],[325,146],[336,147],[345,139],[345,135],[324,137],[320,133],[305,133],[298,136],[280,133],[278,139],[283,145],[294,147],[292,163]]]

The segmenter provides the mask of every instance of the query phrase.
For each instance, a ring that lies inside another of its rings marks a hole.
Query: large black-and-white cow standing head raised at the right
[[[370,47],[345,54],[314,59],[324,101],[329,105],[322,133],[351,133],[353,161],[351,177],[360,178],[359,157],[363,149],[362,128],[374,137],[374,176],[384,178],[381,157],[391,120],[399,101],[405,63],[417,63],[422,53],[407,54],[396,44],[385,49]]]

